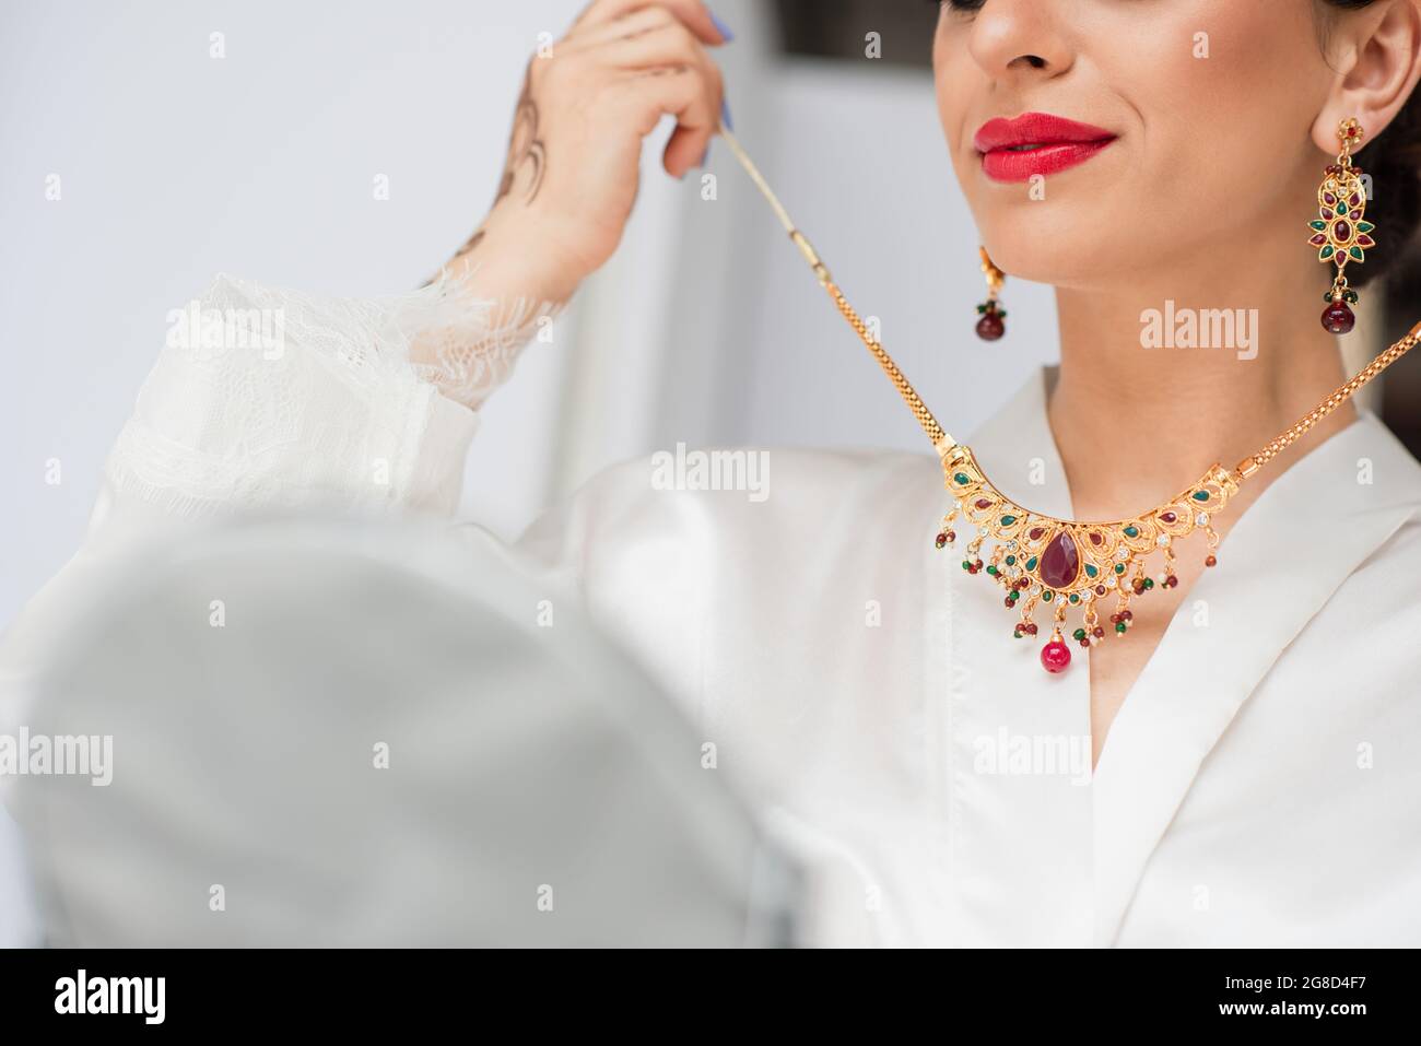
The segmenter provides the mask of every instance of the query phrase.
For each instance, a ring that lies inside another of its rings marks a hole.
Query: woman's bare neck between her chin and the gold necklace
[[[1289,253],[1302,264],[1279,264]],[[1346,381],[1337,338],[1319,323],[1314,257],[1292,240],[1231,244],[1223,264],[1214,252],[1188,273],[1057,290],[1061,367],[1049,416],[1077,519],[1131,516],[1215,462],[1232,468]],[[1160,321],[1147,325],[1147,314]],[[1147,348],[1141,331],[1164,344]],[[1269,472],[1354,418],[1350,402],[1339,408]],[[1263,483],[1249,486],[1256,495]]]

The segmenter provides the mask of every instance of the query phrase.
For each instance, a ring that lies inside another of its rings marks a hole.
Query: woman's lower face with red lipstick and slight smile
[[[1300,230],[1327,162],[1312,132],[1336,80],[1313,0],[951,0],[934,65],[958,180],[1007,273],[1226,270],[1260,229],[1312,260]]]

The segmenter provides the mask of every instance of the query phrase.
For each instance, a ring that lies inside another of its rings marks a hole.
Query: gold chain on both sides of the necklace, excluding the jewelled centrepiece
[[[884,374],[888,375],[888,379],[894,384],[894,388],[898,389],[898,395],[901,395],[904,402],[908,404],[908,408],[918,419],[918,425],[921,425],[922,431],[928,433],[928,438],[932,441],[934,446],[938,448],[938,452],[946,453],[952,446],[955,446],[955,441],[952,439],[952,436],[949,436],[938,424],[938,419],[932,416],[932,411],[929,411],[928,405],[922,402],[922,398],[914,389],[912,384],[908,381],[904,372],[898,368],[898,364],[894,362],[894,358],[888,355],[888,351],[870,335],[868,327],[858,317],[858,313],[854,311],[854,307],[848,304],[848,298],[844,297],[844,291],[838,289],[838,284],[836,284],[833,277],[828,274],[828,267],[823,263],[823,260],[820,260],[818,253],[810,244],[804,233],[801,233],[790,220],[789,212],[784,210],[784,206],[780,203],[779,198],[776,198],[776,195],[770,190],[770,186],[766,183],[764,178],[760,176],[760,172],[756,169],[755,163],[746,155],[745,149],[740,148],[740,144],[736,141],[735,135],[732,135],[723,126],[720,128],[720,134],[725,136],[726,144],[730,146],[730,151],[735,153],[736,159],[739,159],[740,165],[745,166],[745,169],[749,172],[750,180],[755,182],[759,190],[770,202],[770,206],[774,209],[776,216],[779,216],[780,223],[786,227],[786,230],[790,234],[790,239],[800,249],[800,253],[804,256],[804,260],[809,262],[810,269],[814,270],[814,276],[818,279],[820,284],[824,287],[826,291],[828,291],[828,296],[834,301],[834,306],[848,321],[850,327],[854,328],[854,333],[858,334],[864,345],[868,347],[868,351],[874,354],[874,358],[878,361],[878,365],[882,367]],[[1339,385],[1330,397],[1323,399],[1317,406],[1314,406],[1306,415],[1299,418],[1292,425],[1292,428],[1289,428],[1282,435],[1269,441],[1262,451],[1258,451],[1256,453],[1239,462],[1238,466],[1235,468],[1235,473],[1238,475],[1238,478],[1243,479],[1246,476],[1252,476],[1260,468],[1268,465],[1268,462],[1273,460],[1273,458],[1276,458],[1279,453],[1282,453],[1289,446],[1302,439],[1323,418],[1326,418],[1339,406],[1341,406],[1344,402],[1347,402],[1347,399],[1350,399],[1357,389],[1360,389],[1363,385],[1376,378],[1397,360],[1400,360],[1408,351],[1411,351],[1411,348],[1418,341],[1421,341],[1421,323],[1412,327],[1404,338],[1393,343],[1390,348],[1381,352],[1363,370],[1357,371],[1357,374],[1353,375],[1351,379]]]

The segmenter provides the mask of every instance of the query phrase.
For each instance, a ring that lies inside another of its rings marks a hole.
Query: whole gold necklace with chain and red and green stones
[[[1219,544],[1219,536],[1214,529],[1214,517],[1238,495],[1239,486],[1421,340],[1421,323],[1418,323],[1404,338],[1381,352],[1260,451],[1232,469],[1225,469],[1222,465],[1211,466],[1196,483],[1191,483],[1148,512],[1101,523],[1044,516],[1017,505],[998,490],[982,472],[972,449],[944,431],[908,378],[898,370],[898,364],[848,304],[848,298],[834,283],[818,253],[790,220],[784,206],[735,135],[725,128],[720,134],[774,209],[834,306],[872,352],[936,448],[948,493],[953,499],[953,506],[942,519],[936,547],[944,549],[956,541],[953,524],[959,517],[976,529],[966,544],[962,568],[969,574],[986,573],[1002,586],[1006,607],[1019,614],[1013,630],[1017,638],[1037,634],[1037,625],[1032,618],[1036,610],[1046,604],[1052,614],[1052,638],[1042,648],[1042,665],[1049,672],[1061,672],[1070,665],[1070,647],[1061,634],[1069,613],[1080,611],[1081,624],[1071,635],[1081,647],[1090,648],[1107,635],[1106,627],[1100,624],[1098,608],[1103,604],[1114,600],[1110,624],[1115,635],[1124,635],[1134,618],[1130,611],[1130,601],[1134,597],[1150,591],[1157,583],[1167,588],[1178,584],[1174,573],[1174,546],[1179,539],[1202,530],[1209,550],[1204,564],[1215,566],[1218,559],[1214,556],[1214,549]],[[983,566],[982,546],[988,540],[992,541],[992,547]],[[1164,561],[1161,571],[1151,576],[1147,561],[1155,554]]]

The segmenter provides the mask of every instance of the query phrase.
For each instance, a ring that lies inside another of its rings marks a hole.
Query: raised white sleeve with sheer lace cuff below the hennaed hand
[[[169,314],[94,523],[129,505],[452,512],[476,408],[558,308],[479,300],[446,276],[385,298],[219,276]]]

